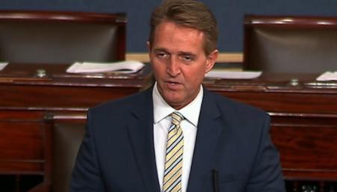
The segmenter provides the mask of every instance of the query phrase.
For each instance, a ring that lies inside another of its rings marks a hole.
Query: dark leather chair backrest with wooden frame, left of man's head
[[[123,13],[0,11],[0,61],[124,60],[125,28]]]

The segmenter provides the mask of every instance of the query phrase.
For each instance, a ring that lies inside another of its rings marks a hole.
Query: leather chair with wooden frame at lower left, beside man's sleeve
[[[29,192],[66,192],[84,137],[86,114],[48,113],[45,121],[44,180]]]

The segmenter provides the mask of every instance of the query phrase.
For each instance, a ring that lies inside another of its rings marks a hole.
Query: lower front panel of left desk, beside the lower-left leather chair
[[[44,112],[0,110],[0,173],[43,174]]]

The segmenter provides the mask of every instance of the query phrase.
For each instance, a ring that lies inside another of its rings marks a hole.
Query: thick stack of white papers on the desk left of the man
[[[102,73],[102,72],[119,72],[135,73],[145,65],[139,61],[122,61],[115,63],[89,63],[76,62],[68,69],[68,73]]]

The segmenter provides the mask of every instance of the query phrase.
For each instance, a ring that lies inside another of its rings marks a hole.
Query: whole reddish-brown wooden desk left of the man
[[[147,66],[130,75],[67,74],[68,66],[9,64],[0,71],[0,174],[45,174],[45,115],[83,119],[89,107],[139,92],[151,73]],[[37,77],[38,69],[47,75]]]

